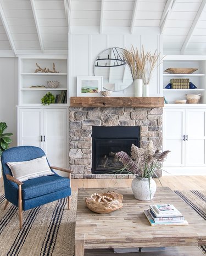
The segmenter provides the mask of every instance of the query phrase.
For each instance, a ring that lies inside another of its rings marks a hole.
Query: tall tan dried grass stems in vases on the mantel
[[[159,55],[157,50],[152,54],[151,52],[139,52],[138,49],[131,47],[130,50],[125,49],[123,52],[125,61],[130,68],[132,79],[142,79],[144,85],[148,85],[151,80],[153,71],[158,62]]]

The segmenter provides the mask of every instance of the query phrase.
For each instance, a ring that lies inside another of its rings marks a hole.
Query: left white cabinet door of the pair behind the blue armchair
[[[18,146],[43,148],[43,109],[19,109]]]

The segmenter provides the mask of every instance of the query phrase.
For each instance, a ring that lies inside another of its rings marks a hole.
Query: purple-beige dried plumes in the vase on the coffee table
[[[153,142],[149,141],[147,147],[138,148],[134,144],[131,146],[131,157],[124,151],[115,154],[124,164],[121,172],[127,171],[142,178],[150,178],[155,175],[155,170],[161,168],[162,162],[166,159],[170,151],[162,153],[157,149],[155,151]]]

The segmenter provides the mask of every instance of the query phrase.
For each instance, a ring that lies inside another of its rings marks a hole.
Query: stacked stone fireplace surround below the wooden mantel
[[[108,174],[92,174],[92,126],[140,126],[140,147],[152,140],[162,150],[163,108],[69,108],[69,166],[75,179],[111,179]],[[114,175],[112,175],[114,176]],[[121,175],[115,175],[120,178]],[[127,175],[124,177],[132,177]]]

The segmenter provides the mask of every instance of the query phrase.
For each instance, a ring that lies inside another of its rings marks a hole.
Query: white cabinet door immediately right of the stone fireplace
[[[163,151],[171,151],[163,166],[185,165],[185,110],[164,109],[163,112]]]

